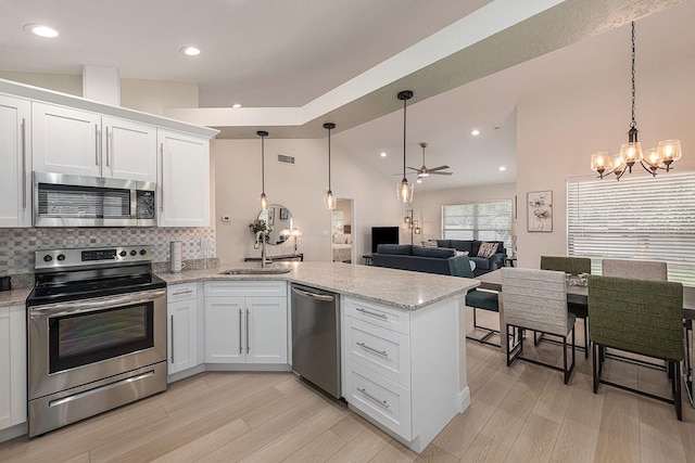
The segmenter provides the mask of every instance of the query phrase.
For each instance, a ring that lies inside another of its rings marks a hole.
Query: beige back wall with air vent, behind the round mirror
[[[236,262],[261,255],[253,248],[249,223],[258,214],[261,195],[261,139],[216,140],[215,162],[217,257]],[[277,154],[294,156],[293,166],[277,162]],[[270,203],[290,209],[302,232],[299,250],[305,260],[331,260],[330,211],[324,206],[328,188],[328,155],[325,140],[265,140],[265,193]],[[357,256],[369,252],[371,227],[399,222],[395,187],[390,179],[354,163],[338,143],[331,150],[331,190],[354,200],[353,242]],[[393,188],[392,188],[393,187]],[[230,222],[223,223],[222,216]],[[289,254],[293,241],[268,247],[268,255]]]

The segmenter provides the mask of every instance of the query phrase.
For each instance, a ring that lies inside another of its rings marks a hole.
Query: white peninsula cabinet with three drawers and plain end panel
[[[458,305],[399,310],[342,299],[342,390],[350,408],[421,452],[458,412]]]

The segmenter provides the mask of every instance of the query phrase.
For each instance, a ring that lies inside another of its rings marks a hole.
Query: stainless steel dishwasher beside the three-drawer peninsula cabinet
[[[292,370],[339,399],[340,298],[292,284]]]

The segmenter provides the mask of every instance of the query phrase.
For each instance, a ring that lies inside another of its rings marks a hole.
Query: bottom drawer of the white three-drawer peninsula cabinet
[[[354,363],[349,375],[349,389],[343,395],[351,407],[405,440],[413,440],[410,390]]]

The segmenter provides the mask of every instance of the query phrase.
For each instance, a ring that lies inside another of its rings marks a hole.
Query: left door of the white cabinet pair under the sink
[[[205,298],[205,362],[247,361],[243,297]]]

